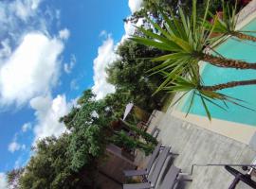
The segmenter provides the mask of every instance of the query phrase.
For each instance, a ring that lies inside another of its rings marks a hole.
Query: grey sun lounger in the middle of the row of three
[[[160,175],[162,167],[170,155],[171,147],[165,147],[162,152],[159,154],[154,170],[151,174],[147,177],[147,181],[143,183],[130,183],[130,184],[123,184],[123,189],[147,189],[147,188],[154,188],[156,181]]]

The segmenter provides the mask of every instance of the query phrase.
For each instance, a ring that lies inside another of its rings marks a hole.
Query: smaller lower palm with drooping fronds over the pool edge
[[[228,82],[228,83],[224,83],[224,84],[205,86],[203,84],[202,80],[200,79],[200,76],[198,76],[197,71],[191,70],[191,73],[188,73],[188,75],[189,75],[189,77],[177,76],[174,78],[174,80],[169,82],[169,85],[166,85],[165,87],[163,87],[163,90],[166,90],[169,93],[170,92],[178,92],[178,93],[182,92],[182,95],[173,103],[173,106],[179,100],[181,100],[186,94],[191,93],[192,97],[190,98],[191,101],[190,101],[190,105],[187,110],[186,116],[191,111],[195,95],[200,97],[202,106],[203,106],[205,112],[207,113],[209,119],[211,119],[211,116],[210,116],[210,111],[209,111],[207,103],[217,106],[218,108],[220,108],[224,111],[227,111],[227,109],[229,108],[227,102],[235,104],[242,108],[246,108],[247,110],[254,111],[254,110],[242,105],[242,103],[244,103],[243,100],[231,97],[226,94],[221,94],[217,91],[220,91],[222,89],[237,87],[237,86],[256,84],[256,79],[232,81],[232,82]],[[224,106],[220,105],[220,103],[217,103],[217,101],[222,102]]]

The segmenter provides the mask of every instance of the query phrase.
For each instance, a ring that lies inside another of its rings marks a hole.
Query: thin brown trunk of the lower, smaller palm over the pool
[[[200,89],[203,91],[215,92],[218,90],[228,89],[232,87],[244,86],[244,85],[256,85],[256,79],[251,80],[241,80],[241,81],[231,81],[228,83],[222,83],[212,86],[201,86]]]

